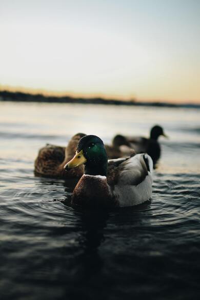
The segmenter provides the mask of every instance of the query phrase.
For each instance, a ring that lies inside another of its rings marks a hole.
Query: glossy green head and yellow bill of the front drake
[[[107,175],[108,157],[104,143],[96,135],[86,135],[78,142],[74,157],[65,165],[65,170],[85,165],[85,174]]]

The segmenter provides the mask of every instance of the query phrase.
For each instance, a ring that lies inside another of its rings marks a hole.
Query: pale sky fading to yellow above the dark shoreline
[[[0,88],[200,103],[199,0],[1,0]]]

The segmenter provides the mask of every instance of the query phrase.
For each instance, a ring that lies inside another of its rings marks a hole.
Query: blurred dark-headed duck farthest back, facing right
[[[151,156],[153,161],[153,167],[155,168],[156,162],[161,156],[161,146],[158,142],[158,137],[163,135],[168,137],[161,126],[156,125],[151,128],[150,137],[146,138],[143,136],[126,136],[124,137],[126,142],[130,144],[136,153],[147,153]],[[113,143],[115,139],[118,139],[118,135],[116,135],[113,139]],[[121,144],[123,145],[123,144]]]

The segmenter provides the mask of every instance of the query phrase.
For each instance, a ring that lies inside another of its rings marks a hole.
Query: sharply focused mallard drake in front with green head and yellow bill
[[[91,207],[133,206],[147,201],[152,191],[152,159],[148,154],[108,161],[101,138],[86,135],[75,156],[64,168],[85,165],[73,193],[72,203]]]

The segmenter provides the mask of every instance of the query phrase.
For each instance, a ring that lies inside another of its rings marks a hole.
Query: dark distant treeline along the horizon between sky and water
[[[171,104],[165,102],[138,102],[138,101],[136,102],[135,99],[131,99],[130,101],[123,101],[117,99],[105,99],[101,97],[82,98],[82,97],[72,97],[72,96],[45,96],[43,94],[30,94],[30,93],[10,92],[10,91],[0,91],[0,101],[200,108],[200,105],[197,104]]]

